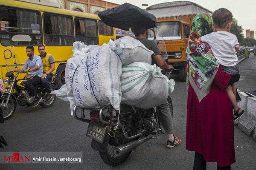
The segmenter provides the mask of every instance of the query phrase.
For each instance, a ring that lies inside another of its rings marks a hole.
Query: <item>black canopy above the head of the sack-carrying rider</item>
[[[153,14],[130,3],[101,11],[98,16],[106,25],[126,31],[135,24],[144,24],[148,28],[156,27],[157,20]]]

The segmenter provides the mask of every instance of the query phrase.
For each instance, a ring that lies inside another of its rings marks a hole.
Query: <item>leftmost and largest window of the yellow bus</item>
[[[41,14],[13,8],[0,8],[1,44],[8,45],[40,45]]]

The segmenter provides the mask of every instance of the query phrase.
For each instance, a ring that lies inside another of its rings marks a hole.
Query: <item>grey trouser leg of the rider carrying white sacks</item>
[[[169,108],[169,103],[166,100],[166,102],[157,106],[157,108],[160,111],[159,122],[162,132],[166,134],[173,134],[172,114]]]

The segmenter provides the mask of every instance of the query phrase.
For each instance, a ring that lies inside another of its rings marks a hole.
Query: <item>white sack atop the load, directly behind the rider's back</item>
[[[116,53],[119,55],[122,65],[128,65],[133,62],[151,64],[153,51],[146,48],[139,40],[125,36],[115,40],[114,43],[116,44]]]

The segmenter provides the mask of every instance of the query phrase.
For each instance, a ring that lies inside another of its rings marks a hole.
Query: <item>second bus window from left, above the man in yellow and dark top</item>
[[[73,45],[72,17],[44,14],[44,44]]]

